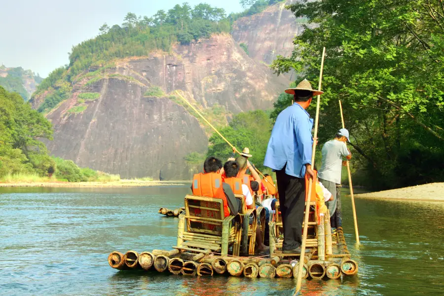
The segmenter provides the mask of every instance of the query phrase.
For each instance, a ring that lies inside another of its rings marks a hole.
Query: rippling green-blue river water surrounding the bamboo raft
[[[171,249],[185,186],[0,188],[0,295],[292,295],[296,279],[117,271],[111,251]],[[344,196],[343,192],[342,196]],[[343,227],[356,277],[303,280],[303,295],[443,295],[444,203],[349,197]]]

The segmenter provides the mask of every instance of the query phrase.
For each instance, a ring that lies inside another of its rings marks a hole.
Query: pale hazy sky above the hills
[[[107,23],[121,25],[127,12],[151,16],[183,0],[0,0],[0,65],[31,69],[46,77],[69,63],[73,45],[95,37]],[[242,10],[239,0],[187,0]]]

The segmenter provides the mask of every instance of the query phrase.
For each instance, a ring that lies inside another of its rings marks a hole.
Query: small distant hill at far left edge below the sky
[[[0,86],[7,91],[19,93],[25,101],[31,98],[37,85],[43,80],[31,70],[23,70],[22,67],[6,68],[0,66]]]

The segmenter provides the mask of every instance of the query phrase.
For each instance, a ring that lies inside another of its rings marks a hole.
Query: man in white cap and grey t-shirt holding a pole
[[[341,128],[333,140],[324,144],[322,148],[322,165],[318,174],[321,183],[333,195],[332,200],[327,202],[333,234],[336,232],[336,227],[340,226],[336,225],[335,214],[336,205],[338,204],[336,186],[341,184],[341,168],[342,165],[346,165],[346,163],[342,161],[342,157],[351,159],[351,152],[345,145],[346,141],[350,142],[348,130]]]

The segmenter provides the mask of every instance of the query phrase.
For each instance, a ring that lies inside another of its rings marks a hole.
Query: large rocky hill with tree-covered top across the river
[[[151,17],[128,13],[121,26],[104,24],[33,94],[32,107],[54,126],[47,148],[124,178],[189,180],[202,164],[185,159],[205,154],[212,131],[178,94],[217,127],[239,112],[272,108],[290,81],[266,64],[270,54],[288,52],[300,28],[284,3],[259,0],[228,16],[206,3],[184,3]],[[281,26],[285,34],[268,44]]]

